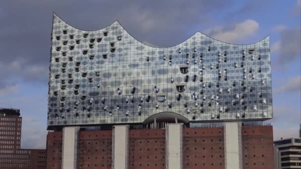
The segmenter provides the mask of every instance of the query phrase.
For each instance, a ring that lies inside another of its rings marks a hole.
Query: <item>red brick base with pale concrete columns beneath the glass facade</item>
[[[74,162],[76,169],[112,169],[113,165],[117,169],[120,163],[127,169],[171,169],[172,165],[229,169],[234,159],[240,169],[274,169],[272,126],[234,125],[237,137],[228,123],[221,127],[169,124],[161,129],[115,126],[112,130],[78,130]],[[117,133],[120,129],[125,129],[126,135]],[[62,131],[48,133],[47,169],[61,169],[62,157],[68,158],[63,154],[63,137]]]

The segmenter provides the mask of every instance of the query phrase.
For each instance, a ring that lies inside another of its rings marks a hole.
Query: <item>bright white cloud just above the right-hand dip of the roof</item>
[[[215,28],[210,28],[206,30],[205,33],[217,40],[235,43],[253,36],[258,28],[259,24],[256,21],[248,19],[230,27],[217,26]]]

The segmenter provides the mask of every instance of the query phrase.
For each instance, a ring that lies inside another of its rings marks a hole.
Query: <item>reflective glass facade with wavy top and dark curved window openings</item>
[[[168,35],[166,35],[168,37]],[[118,21],[76,29],[55,14],[48,126],[273,118],[269,37],[237,45],[201,33],[172,47],[139,42]]]

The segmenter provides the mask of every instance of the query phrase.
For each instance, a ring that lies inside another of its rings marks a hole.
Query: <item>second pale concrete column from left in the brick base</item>
[[[129,126],[114,126],[112,131],[112,169],[128,169]]]

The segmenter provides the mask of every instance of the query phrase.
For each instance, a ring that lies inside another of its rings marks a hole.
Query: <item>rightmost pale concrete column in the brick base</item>
[[[241,122],[224,124],[224,150],[225,169],[243,169]]]

